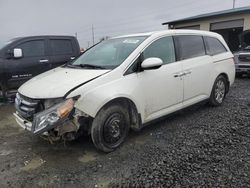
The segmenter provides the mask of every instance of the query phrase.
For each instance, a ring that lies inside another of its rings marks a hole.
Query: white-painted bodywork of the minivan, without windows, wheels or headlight
[[[234,82],[235,67],[231,52],[213,57],[205,55],[166,64],[156,70],[124,75],[139,54],[153,41],[180,34],[212,36],[218,38],[229,50],[220,35],[206,31],[168,30],[128,35],[148,38],[116,69],[57,68],[33,78],[19,92],[30,98],[62,97],[75,86],[106,73],[75,89],[68,98],[81,95],[75,107],[95,117],[107,102],[125,97],[135,103],[142,123],[145,123],[209,98],[213,83],[221,73],[228,75],[230,84]]]

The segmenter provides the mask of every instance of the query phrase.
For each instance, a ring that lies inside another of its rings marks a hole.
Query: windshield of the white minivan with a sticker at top
[[[142,42],[144,37],[110,39],[86,51],[69,65],[82,68],[114,69],[118,67]]]

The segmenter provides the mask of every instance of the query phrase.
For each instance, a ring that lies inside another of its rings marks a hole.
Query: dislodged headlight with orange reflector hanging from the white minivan
[[[64,122],[73,110],[74,104],[75,100],[70,98],[43,112],[37,113],[34,116],[31,131],[35,134],[39,134]]]

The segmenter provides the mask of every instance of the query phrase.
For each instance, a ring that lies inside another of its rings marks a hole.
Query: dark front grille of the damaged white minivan
[[[33,120],[34,114],[44,110],[42,100],[30,99],[19,93],[16,94],[15,107],[19,115],[30,121]]]

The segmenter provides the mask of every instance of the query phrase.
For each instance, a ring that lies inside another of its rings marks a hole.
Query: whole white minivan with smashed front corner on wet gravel
[[[16,95],[17,123],[49,140],[83,133],[110,152],[129,129],[203,100],[221,105],[233,55],[212,32],[166,30],[111,38],[40,74]]]

